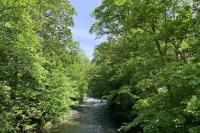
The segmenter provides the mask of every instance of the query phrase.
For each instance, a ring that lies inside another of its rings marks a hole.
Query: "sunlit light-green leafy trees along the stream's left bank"
[[[88,61],[74,14],[66,0],[0,1],[0,132],[42,128],[82,101]]]

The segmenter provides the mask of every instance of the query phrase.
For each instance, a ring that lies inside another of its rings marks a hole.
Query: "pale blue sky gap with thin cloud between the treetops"
[[[77,15],[74,17],[74,27],[72,33],[74,39],[79,41],[81,49],[91,60],[95,46],[105,41],[105,38],[96,39],[95,34],[90,34],[89,30],[95,19],[91,17],[91,11],[100,5],[101,0],[70,0],[75,7]]]

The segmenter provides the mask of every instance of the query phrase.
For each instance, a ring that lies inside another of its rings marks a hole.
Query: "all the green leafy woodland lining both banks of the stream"
[[[102,0],[91,63],[67,0],[0,1],[0,132],[55,123],[89,95],[126,117],[122,132],[200,132],[200,2]]]

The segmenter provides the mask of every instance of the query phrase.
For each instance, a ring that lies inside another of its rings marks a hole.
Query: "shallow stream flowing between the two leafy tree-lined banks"
[[[105,101],[88,98],[78,110],[78,114],[48,133],[119,133],[121,121],[109,112]]]

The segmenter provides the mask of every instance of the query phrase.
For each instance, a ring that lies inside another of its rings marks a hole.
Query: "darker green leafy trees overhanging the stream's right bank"
[[[199,1],[103,0],[91,32],[96,48],[91,93],[129,114],[121,130],[198,133]]]

